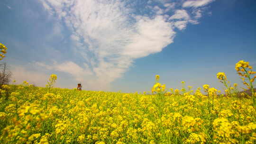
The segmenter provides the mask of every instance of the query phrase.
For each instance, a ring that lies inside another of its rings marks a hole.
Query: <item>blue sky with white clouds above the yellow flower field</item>
[[[255,0],[1,0],[0,43],[16,84],[143,92],[244,87],[239,60],[256,68]]]

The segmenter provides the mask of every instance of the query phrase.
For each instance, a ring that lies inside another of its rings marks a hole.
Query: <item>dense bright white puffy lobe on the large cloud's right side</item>
[[[163,16],[154,19],[142,18],[137,22],[138,33],[132,36],[132,43],[127,45],[124,54],[139,58],[161,52],[173,42],[175,32]]]

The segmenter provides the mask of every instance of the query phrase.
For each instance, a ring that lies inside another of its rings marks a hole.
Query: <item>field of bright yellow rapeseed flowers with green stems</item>
[[[3,85],[0,144],[256,144],[256,72],[244,61],[235,68],[252,95],[224,72],[225,95],[185,81],[167,89],[159,75],[152,94],[54,88],[55,74],[46,88]]]

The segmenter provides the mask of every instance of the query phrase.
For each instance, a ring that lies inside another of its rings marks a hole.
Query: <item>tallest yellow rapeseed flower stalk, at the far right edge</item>
[[[253,100],[253,104],[255,105],[256,101],[254,96],[253,82],[256,78],[256,75],[254,77],[252,75],[254,75],[256,72],[252,71],[253,68],[252,66],[249,65],[249,62],[245,62],[243,60],[236,63],[235,69],[238,72],[238,75],[241,76],[241,79],[243,80],[244,85],[246,85],[248,89],[251,89],[252,100]]]

